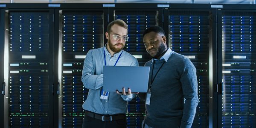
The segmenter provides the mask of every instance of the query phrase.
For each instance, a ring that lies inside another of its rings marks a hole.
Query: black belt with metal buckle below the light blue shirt
[[[102,121],[114,121],[114,120],[119,120],[119,119],[125,119],[126,116],[125,114],[116,114],[116,115],[101,115],[97,113],[93,113],[90,111],[85,111],[86,116],[90,116],[95,119],[100,119]]]

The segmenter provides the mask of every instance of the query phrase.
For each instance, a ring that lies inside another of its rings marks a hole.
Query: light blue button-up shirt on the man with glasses
[[[122,50],[111,57],[111,54],[105,47],[91,49],[84,59],[84,67],[82,71],[82,82],[85,88],[89,89],[87,99],[83,104],[84,110],[98,114],[117,114],[127,113],[128,101],[134,98],[135,94],[129,96],[118,95],[116,92],[110,92],[108,99],[100,99],[101,88],[103,86],[103,66],[114,65],[121,54],[116,66],[138,66],[137,59],[130,53]],[[115,78],[113,78],[113,82]]]

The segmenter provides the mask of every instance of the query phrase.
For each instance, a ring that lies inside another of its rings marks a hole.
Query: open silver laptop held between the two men
[[[103,90],[122,92],[125,87],[131,92],[145,93],[148,91],[148,78],[150,67],[133,66],[104,66],[103,67]]]

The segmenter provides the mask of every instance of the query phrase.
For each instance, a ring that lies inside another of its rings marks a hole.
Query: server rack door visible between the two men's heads
[[[143,32],[150,26],[159,25],[159,10],[157,9],[111,9],[110,22],[115,19],[124,20],[128,25],[128,36],[130,37],[125,43],[124,50],[134,55],[143,66],[145,62],[151,60],[143,44]],[[113,13],[113,14],[112,14]],[[113,16],[113,18],[111,18]],[[136,96],[128,104],[127,127],[141,127],[145,116],[145,103],[140,101]]]

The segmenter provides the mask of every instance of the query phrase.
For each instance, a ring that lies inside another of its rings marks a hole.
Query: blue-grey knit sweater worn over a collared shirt
[[[196,69],[183,55],[173,52],[168,61],[154,60],[150,105],[146,105],[145,123],[153,128],[190,128],[198,105]],[[149,85],[152,77],[152,60]],[[145,100],[145,93],[139,93]],[[184,101],[184,99],[186,99]]]

